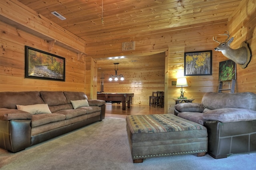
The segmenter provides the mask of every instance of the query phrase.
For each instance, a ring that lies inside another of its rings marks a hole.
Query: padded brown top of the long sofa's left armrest
[[[18,110],[18,109],[0,108],[0,120],[10,121],[13,119],[31,120],[32,115],[28,112]]]

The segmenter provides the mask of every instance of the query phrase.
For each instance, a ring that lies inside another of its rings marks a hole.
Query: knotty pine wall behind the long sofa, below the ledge
[[[24,78],[24,46],[66,58],[66,81]],[[46,40],[0,21],[0,91],[83,91],[85,92],[85,56],[54,45],[49,51]]]

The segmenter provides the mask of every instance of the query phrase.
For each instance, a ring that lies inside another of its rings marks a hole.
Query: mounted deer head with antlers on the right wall
[[[251,58],[251,52],[248,44],[246,42],[243,42],[240,48],[232,49],[230,48],[230,43],[232,43],[232,41],[234,40],[234,37],[229,39],[229,36],[230,36],[229,33],[219,34],[219,35],[228,36],[228,38],[225,40],[225,42],[222,43],[217,41],[216,36],[215,36],[215,40],[214,40],[214,37],[212,37],[212,40],[220,44],[218,45],[218,47],[214,48],[214,50],[221,51],[225,57],[233,60],[235,63],[239,64],[240,67],[245,68],[247,64],[250,62],[250,58]]]

